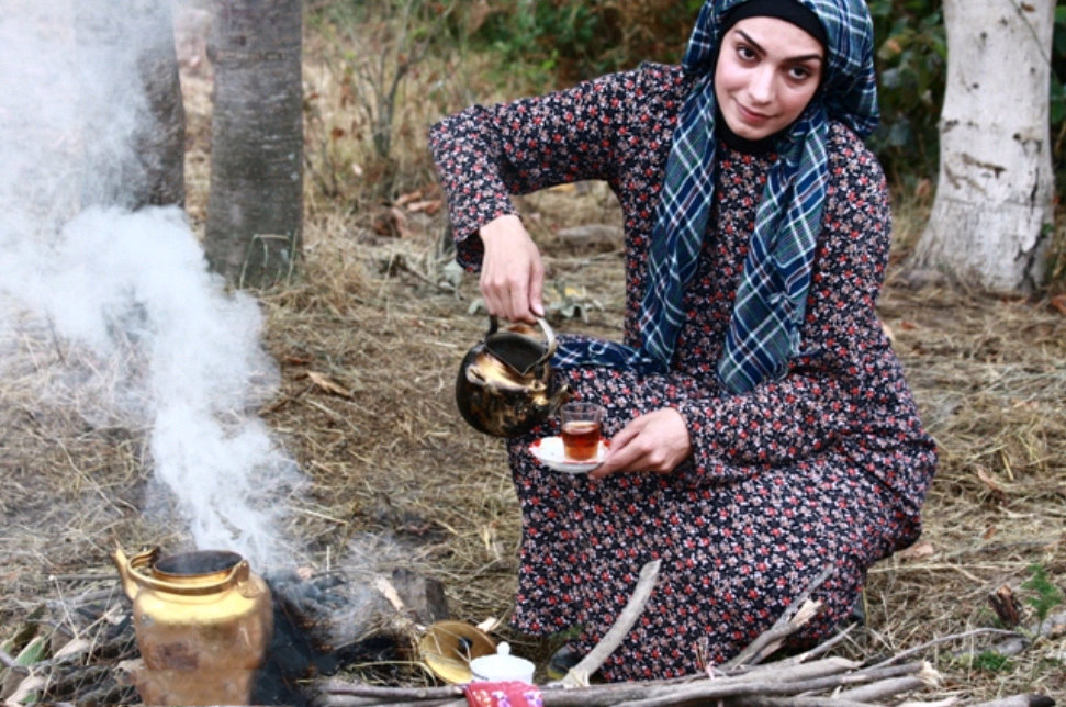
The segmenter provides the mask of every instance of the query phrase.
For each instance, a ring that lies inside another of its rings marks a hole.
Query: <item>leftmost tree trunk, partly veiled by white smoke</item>
[[[86,171],[81,205],[184,202],[184,109],[170,4],[76,4]]]

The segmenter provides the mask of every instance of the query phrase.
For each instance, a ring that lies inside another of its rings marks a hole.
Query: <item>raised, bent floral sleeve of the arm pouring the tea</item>
[[[430,128],[461,265],[480,265],[481,239],[471,236],[516,213],[510,194],[582,179],[613,181],[632,145],[649,74],[637,69],[538,98],[472,105]]]

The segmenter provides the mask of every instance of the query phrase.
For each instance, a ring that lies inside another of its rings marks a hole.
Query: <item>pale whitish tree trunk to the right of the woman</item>
[[[1041,284],[1054,218],[1054,0],[944,0],[940,176],[912,266],[994,291]]]

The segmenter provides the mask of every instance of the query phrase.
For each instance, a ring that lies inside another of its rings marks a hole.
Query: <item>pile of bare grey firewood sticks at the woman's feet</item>
[[[940,675],[925,661],[905,661],[899,655],[867,665],[843,658],[819,658],[846,636],[846,630],[815,649],[766,665],[784,639],[799,630],[819,610],[809,594],[828,576],[815,580],[798,597],[793,609],[762,633],[739,655],[721,666],[708,666],[706,674],[674,681],[590,684],[590,675],[604,663],[639,617],[659,572],[659,562],[648,563],[615,626],[596,648],[562,680],[540,691],[546,707],[877,707],[897,704],[900,696],[935,687]],[[886,702],[891,700],[891,702]],[[436,688],[389,688],[340,681],[326,682],[315,707],[463,707],[468,704],[460,686]],[[917,705],[919,703],[908,703]],[[961,703],[947,698],[924,703],[947,707]],[[974,707],[1053,707],[1043,695],[1017,695]]]

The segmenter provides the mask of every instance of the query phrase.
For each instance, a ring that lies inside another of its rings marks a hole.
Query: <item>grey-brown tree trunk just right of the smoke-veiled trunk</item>
[[[211,189],[204,248],[238,287],[288,278],[301,248],[301,3],[216,0]]]

